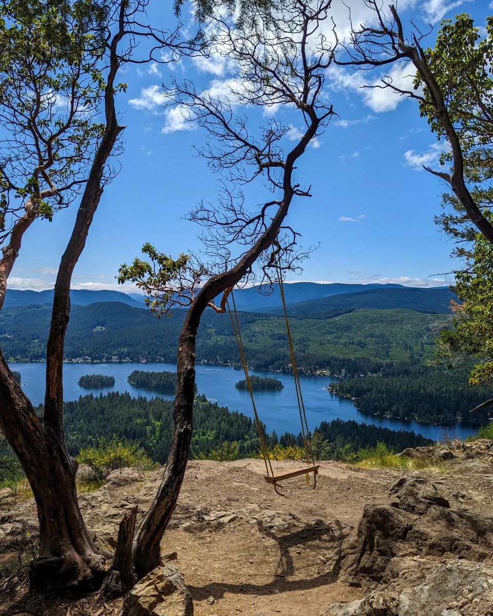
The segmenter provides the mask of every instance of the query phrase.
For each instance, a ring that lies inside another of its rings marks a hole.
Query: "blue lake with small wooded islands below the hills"
[[[12,370],[18,370],[22,379],[22,388],[34,405],[44,401],[45,363],[12,363]],[[64,363],[63,364],[63,399],[77,400],[80,395],[92,393],[99,395],[102,391],[128,391],[132,395],[145,397],[158,396],[165,400],[173,399],[172,395],[163,394],[146,387],[134,387],[128,383],[127,377],[132,370],[149,371],[176,371],[176,365],[171,363]],[[226,406],[230,411],[240,411],[253,417],[250,394],[248,391],[237,389],[235,383],[244,378],[243,372],[227,366],[197,365],[197,387],[200,394],[205,394],[210,400],[217,401],[219,405]],[[78,386],[82,375],[102,374],[115,377],[114,387],[103,389],[86,389]],[[293,376],[277,372],[256,372],[258,376],[272,376],[279,379],[284,389],[274,391],[255,391],[255,403],[261,421],[266,424],[267,431],[275,430],[280,436],[283,432],[300,431],[299,412],[296,403],[295,385]],[[433,440],[443,440],[444,436],[457,436],[465,438],[475,431],[466,424],[455,424],[452,428],[422,424],[417,421],[402,421],[388,419],[361,413],[348,399],[341,399],[330,394],[325,389],[330,383],[336,381],[330,376],[301,376],[303,400],[311,429],[316,428],[321,421],[332,419],[355,419],[359,423],[372,423],[382,428],[393,430],[414,430]]]

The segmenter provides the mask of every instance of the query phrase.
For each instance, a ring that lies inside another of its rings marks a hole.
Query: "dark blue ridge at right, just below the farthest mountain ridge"
[[[432,289],[414,287],[378,288],[290,304],[288,314],[303,318],[332,318],[335,310],[361,308],[404,309],[427,314],[445,314],[449,312],[451,299],[458,301],[457,296],[448,287]],[[275,315],[282,314],[282,310],[279,308],[263,310],[263,312]]]

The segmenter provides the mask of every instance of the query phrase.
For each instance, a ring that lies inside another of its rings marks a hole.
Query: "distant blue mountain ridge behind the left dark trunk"
[[[86,289],[71,290],[70,301],[72,306],[89,306],[97,302],[121,302],[134,308],[144,308],[144,302],[137,301],[126,293],[121,291],[88,291]],[[5,308],[15,308],[17,306],[34,306],[53,303],[53,290],[49,291],[31,291],[7,289],[5,298]]]

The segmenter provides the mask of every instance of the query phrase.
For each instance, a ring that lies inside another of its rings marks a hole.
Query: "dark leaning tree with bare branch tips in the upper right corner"
[[[432,131],[446,140],[450,152],[446,160],[451,172],[426,171],[444,180],[455,195],[470,222],[493,243],[493,225],[484,216],[481,201],[468,186],[471,157],[481,156],[491,142],[492,85],[489,63],[492,58],[491,35],[476,49],[477,33],[467,16],[460,16],[452,28],[446,23],[439,32],[438,52],[423,49],[425,35],[412,28],[404,31],[401,17],[394,5],[389,14],[378,3],[365,0],[373,10],[375,26],[354,28],[348,43],[338,44],[335,63],[351,67],[385,67],[394,62],[409,62],[416,71],[414,88],[405,90],[395,86],[388,76],[381,85],[400,95],[416,99],[420,111],[428,118]],[[491,21],[489,29],[491,30]],[[444,58],[444,55],[449,57]],[[419,88],[423,88],[420,94]],[[465,92],[468,95],[464,97]],[[480,159],[479,159],[480,160]]]

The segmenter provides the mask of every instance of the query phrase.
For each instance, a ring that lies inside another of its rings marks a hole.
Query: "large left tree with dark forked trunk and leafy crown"
[[[0,428],[14,449],[35,496],[39,557],[31,565],[31,590],[43,593],[100,585],[115,569],[121,588],[132,585],[125,533],[108,567],[89,535],[75,487],[76,461],[63,435],[63,344],[70,317],[70,281],[84,249],[105,185],[108,161],[123,127],[115,95],[121,65],[150,59],[166,48],[171,59],[194,44],[141,23],[147,0],[31,0],[2,3],[0,116],[6,137],[0,161],[0,305],[23,235],[39,219],[70,205],[83,187],[76,221],[55,282],[47,344],[44,413],[36,415],[0,354]],[[141,59],[139,39],[150,41]],[[10,55],[9,55],[10,54]],[[169,61],[169,60],[166,60]],[[100,118],[99,103],[102,105]],[[23,200],[17,205],[15,198]],[[124,519],[130,528],[134,519]]]

